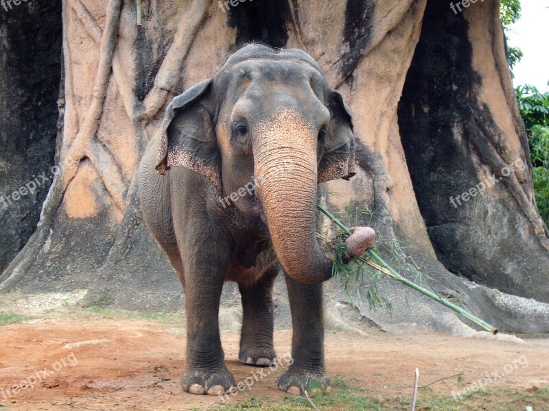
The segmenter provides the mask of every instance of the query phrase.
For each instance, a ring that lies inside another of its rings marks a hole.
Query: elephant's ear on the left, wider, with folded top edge
[[[160,129],[156,171],[165,174],[172,166],[185,167],[209,179],[221,190],[220,151],[209,111],[212,79],[207,79],[174,97]]]

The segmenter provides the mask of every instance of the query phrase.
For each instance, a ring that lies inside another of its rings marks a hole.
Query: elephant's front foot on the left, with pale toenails
[[[235,384],[235,378],[226,368],[222,371],[183,371],[180,384],[185,393],[222,395]]]

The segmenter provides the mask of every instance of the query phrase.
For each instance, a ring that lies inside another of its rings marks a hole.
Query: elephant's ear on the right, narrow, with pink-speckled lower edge
[[[318,182],[350,179],[355,175],[355,138],[351,109],[340,92],[329,90],[328,110],[330,123],[324,142],[324,151],[318,165]]]

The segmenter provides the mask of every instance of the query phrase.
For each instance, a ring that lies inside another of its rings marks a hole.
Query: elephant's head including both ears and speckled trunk
[[[292,278],[331,277],[315,236],[317,184],[355,174],[353,124],[307,53],[248,45],[231,55],[170,103],[157,162],[160,173],[183,166],[207,177],[227,202],[238,192],[231,207],[261,214]],[[255,191],[240,195],[251,181]]]

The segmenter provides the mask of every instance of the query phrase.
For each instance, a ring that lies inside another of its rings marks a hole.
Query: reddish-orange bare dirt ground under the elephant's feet
[[[279,357],[290,352],[290,340],[289,331],[275,333]],[[264,369],[261,377],[258,368],[237,361],[238,341],[238,333],[222,333],[227,366],[237,382],[250,375],[259,381],[229,401],[280,398],[276,379],[285,362],[274,371]],[[465,387],[487,375],[491,388],[549,386],[548,339],[517,343],[443,334],[327,332],[325,345],[331,375],[351,379],[379,397],[411,395],[416,367],[420,386],[458,373],[465,374]],[[0,403],[8,405],[6,410],[215,409],[223,403],[219,397],[181,392],[184,353],[185,329],[153,321],[91,316],[6,325],[0,327]],[[25,379],[34,388],[7,391],[21,388]],[[431,387],[437,395],[464,388],[456,377]]]

